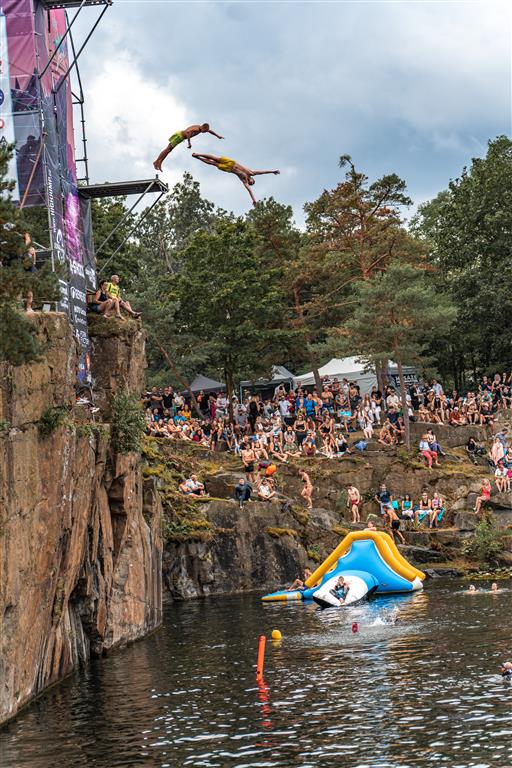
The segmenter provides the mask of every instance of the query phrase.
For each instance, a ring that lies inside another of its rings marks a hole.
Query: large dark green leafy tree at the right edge
[[[512,366],[512,141],[499,136],[487,155],[420,206],[412,230],[424,238],[438,271],[438,289],[458,307],[438,368],[462,386],[489,370]]]

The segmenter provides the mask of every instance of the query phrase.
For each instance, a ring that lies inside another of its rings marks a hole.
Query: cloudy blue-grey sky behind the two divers
[[[96,9],[82,12],[90,26]],[[508,0],[114,0],[82,57],[92,181],[149,178],[171,133],[210,122],[227,154],[262,177],[257,197],[293,205],[340,179],[341,154],[370,178],[396,172],[416,203],[511,132]],[[181,145],[189,170],[235,212],[249,198]]]

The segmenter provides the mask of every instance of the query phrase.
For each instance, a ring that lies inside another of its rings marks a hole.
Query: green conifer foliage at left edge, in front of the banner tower
[[[0,360],[20,365],[34,360],[41,347],[30,317],[22,313],[33,294],[34,306],[58,298],[57,279],[50,264],[38,272],[25,269],[20,212],[11,200],[12,182],[7,178],[11,149],[0,147]]]

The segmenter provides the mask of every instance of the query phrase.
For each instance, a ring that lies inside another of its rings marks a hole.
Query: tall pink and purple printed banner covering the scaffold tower
[[[0,121],[5,140],[16,141],[15,199],[48,208],[53,260],[67,270],[60,280],[59,309],[73,324],[80,347],[78,379],[85,384],[91,380],[85,268],[94,282],[94,257],[91,264],[90,221],[86,235],[77,191],[66,12],[48,11],[41,0],[0,4],[5,13],[0,13]]]

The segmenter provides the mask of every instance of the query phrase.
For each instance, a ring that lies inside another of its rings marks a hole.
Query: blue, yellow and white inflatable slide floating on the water
[[[423,588],[425,574],[402,557],[392,537],[384,531],[349,533],[305,582],[305,589],[281,590],[265,595],[264,602],[312,600],[322,607],[340,605],[332,595],[339,577],[350,584],[345,605],[371,594],[413,592]]]

